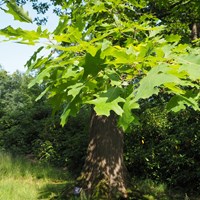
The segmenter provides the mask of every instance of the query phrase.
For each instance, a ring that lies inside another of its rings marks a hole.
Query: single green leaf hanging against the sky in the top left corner
[[[6,13],[11,14],[15,20],[32,23],[32,19],[29,17],[28,12],[25,12],[23,7],[19,7],[15,0],[7,1],[8,10],[4,10]]]

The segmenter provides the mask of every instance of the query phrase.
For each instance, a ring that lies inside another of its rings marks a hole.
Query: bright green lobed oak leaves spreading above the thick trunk
[[[48,92],[55,110],[63,108],[62,125],[82,105],[92,104],[99,115],[108,116],[113,110],[125,130],[135,120],[130,113],[138,109],[138,100],[161,91],[175,95],[170,109],[180,110],[183,103],[199,109],[195,92],[199,85],[194,82],[198,81],[194,76],[199,71],[198,51],[180,44],[176,35],[163,36],[164,27],[156,26],[153,16],[146,14],[150,21],[144,16],[137,18],[133,8],[145,5],[86,1],[65,6],[71,13],[60,18],[53,33],[38,29],[32,31],[32,37],[24,30],[28,34],[19,35],[11,27],[1,30],[22,43],[37,42],[41,33],[51,41],[47,45],[52,49],[49,56],[36,59],[34,54],[27,66],[39,71],[30,86],[44,82],[42,94]],[[189,87],[193,88],[190,93]]]

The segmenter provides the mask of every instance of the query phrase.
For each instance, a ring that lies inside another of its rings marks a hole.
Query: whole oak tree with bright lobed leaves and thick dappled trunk
[[[14,1],[7,5],[15,19],[30,21]],[[38,73],[29,86],[45,85],[37,99],[48,94],[54,110],[62,109],[63,126],[82,106],[93,110],[80,187],[92,199],[97,194],[127,197],[123,131],[138,123],[134,111],[153,95],[168,94],[168,110],[199,110],[199,49],[181,43],[179,35],[166,34],[160,19],[144,12],[146,1],[77,0],[61,5],[68,12],[53,32],[8,26],[0,34],[25,44],[45,41],[26,64]],[[40,56],[45,49],[49,55]]]

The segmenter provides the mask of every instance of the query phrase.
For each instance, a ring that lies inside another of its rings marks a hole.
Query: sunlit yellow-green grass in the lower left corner
[[[55,199],[71,180],[63,170],[0,153],[0,199]]]

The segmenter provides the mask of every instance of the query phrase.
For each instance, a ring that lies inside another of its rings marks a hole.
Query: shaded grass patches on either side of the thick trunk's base
[[[65,183],[46,184],[39,192],[38,199],[42,200],[86,200],[83,196],[75,196],[74,181]],[[117,200],[117,199],[116,199]],[[152,180],[134,181],[130,188],[127,200],[200,200],[197,194],[186,193],[184,190],[169,189],[164,184],[158,184]]]

